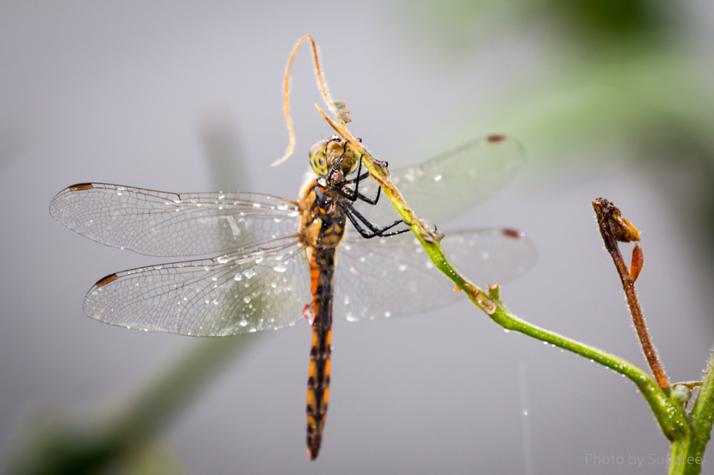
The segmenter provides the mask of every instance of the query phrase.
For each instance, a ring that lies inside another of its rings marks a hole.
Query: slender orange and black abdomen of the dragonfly
[[[317,458],[327,417],[330,394],[330,354],[332,339],[332,297],[335,249],[313,248],[310,277],[313,294],[313,337],[308,374],[308,456]]]

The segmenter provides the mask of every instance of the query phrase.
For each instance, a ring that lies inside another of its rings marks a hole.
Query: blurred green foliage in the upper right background
[[[537,67],[443,131],[508,133],[538,165],[625,160],[714,257],[714,65],[696,5],[670,0],[421,0],[417,21],[443,56],[501,31],[534,38]],[[531,69],[529,69],[531,67]],[[483,91],[475,91],[475,95]],[[468,98],[464,98],[468,105]],[[613,197],[615,198],[615,197]]]

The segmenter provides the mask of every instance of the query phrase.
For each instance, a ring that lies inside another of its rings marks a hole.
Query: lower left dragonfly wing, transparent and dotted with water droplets
[[[109,275],[89,290],[84,312],[111,325],[215,337],[293,325],[311,298],[303,245],[286,238]]]

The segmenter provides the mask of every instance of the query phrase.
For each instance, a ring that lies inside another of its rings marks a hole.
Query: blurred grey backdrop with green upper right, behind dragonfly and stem
[[[269,166],[288,141],[283,71],[306,33],[353,132],[391,166],[487,133],[521,141],[518,178],[443,229],[524,230],[538,264],[503,287],[506,305],[646,367],[590,201],[618,205],[643,236],[638,293],[665,369],[673,382],[700,379],[714,342],[713,4],[674,14],[659,2],[659,16],[624,34],[617,21],[588,26],[571,4],[588,1],[0,4],[0,466],[57,414],[90,424],[130,404],[196,344],[84,316],[96,280],[161,258],[72,233],[51,219],[51,198],[85,181],[296,197],[306,150],[331,134],[303,50],[297,152]],[[635,72],[633,58],[645,58]],[[645,467],[669,444],[633,384],[506,334],[468,302],[336,322],[330,412],[311,463],[310,329],[257,339],[159,437],[171,471],[666,472]],[[625,464],[585,464],[587,454]],[[628,454],[645,463],[628,465]]]

